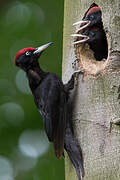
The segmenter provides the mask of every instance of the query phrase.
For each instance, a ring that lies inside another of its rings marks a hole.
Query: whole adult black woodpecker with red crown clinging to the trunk
[[[79,72],[75,72],[68,83],[63,84],[56,74],[43,71],[38,59],[50,45],[48,43],[38,48],[20,50],[15,64],[26,72],[34,102],[43,118],[48,139],[53,142],[56,157],[64,156],[65,149],[80,180],[84,176],[82,151],[67,118],[69,92],[74,88],[74,77]]]

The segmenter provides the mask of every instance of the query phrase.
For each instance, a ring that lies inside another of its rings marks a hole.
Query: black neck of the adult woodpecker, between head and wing
[[[47,73],[40,68],[38,62],[32,64],[31,67],[26,71],[26,74],[32,92],[38,87],[38,85],[47,75]]]

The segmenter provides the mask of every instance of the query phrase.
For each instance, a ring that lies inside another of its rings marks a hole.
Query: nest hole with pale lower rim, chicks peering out
[[[78,27],[77,34],[82,34],[83,36],[88,36],[89,39],[83,43],[76,43],[82,40],[81,36],[78,36],[75,39],[74,49],[76,58],[79,59],[79,66],[82,70],[84,70],[87,74],[91,74],[97,76],[103,73],[108,66],[108,41],[106,32],[104,30],[103,22],[102,22],[102,11],[98,5],[94,5],[96,10],[93,11],[90,8],[88,9],[87,18],[90,21],[91,16],[94,15],[94,21],[92,25],[89,25],[87,28],[80,31],[81,26]],[[88,13],[89,12],[89,13]],[[99,15],[99,19],[98,19]],[[96,19],[95,19],[96,18]],[[84,15],[82,21],[86,20],[86,16]],[[92,21],[91,21],[92,22]],[[82,42],[82,41],[81,41]]]

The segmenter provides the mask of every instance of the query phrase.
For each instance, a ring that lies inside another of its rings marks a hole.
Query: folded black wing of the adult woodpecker
[[[66,126],[66,93],[62,81],[57,76],[48,76],[41,84],[39,110],[45,131],[54,144],[56,157],[63,156]]]

